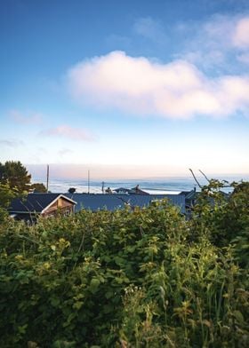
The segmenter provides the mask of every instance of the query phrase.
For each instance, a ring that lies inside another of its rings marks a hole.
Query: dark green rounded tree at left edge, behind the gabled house
[[[28,170],[21,164],[20,161],[7,161],[4,164],[0,163],[0,183],[9,184],[13,189],[22,193],[30,188],[31,175]]]

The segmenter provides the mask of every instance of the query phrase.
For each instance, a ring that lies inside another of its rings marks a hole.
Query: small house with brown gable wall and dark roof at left
[[[28,194],[25,198],[15,198],[8,209],[12,218],[36,220],[37,216],[49,218],[59,211],[68,215],[75,211],[76,202],[64,194]]]

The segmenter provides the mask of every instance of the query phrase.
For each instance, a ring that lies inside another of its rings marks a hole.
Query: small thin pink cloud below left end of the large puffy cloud
[[[62,124],[56,128],[51,128],[49,130],[42,130],[40,135],[44,136],[58,136],[62,138],[69,138],[73,140],[80,141],[92,141],[93,136],[87,130],[82,130],[78,128],[73,128],[67,124]]]

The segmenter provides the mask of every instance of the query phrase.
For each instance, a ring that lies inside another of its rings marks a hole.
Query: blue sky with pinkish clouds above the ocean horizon
[[[0,0],[0,162],[249,174],[247,0]]]

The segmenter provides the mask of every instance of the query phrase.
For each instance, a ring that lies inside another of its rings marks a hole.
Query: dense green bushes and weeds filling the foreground
[[[211,192],[189,221],[167,202],[5,220],[0,346],[247,347],[248,195]]]

